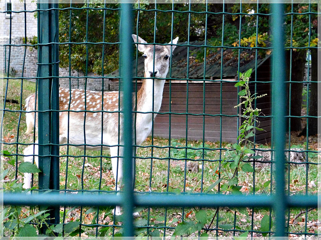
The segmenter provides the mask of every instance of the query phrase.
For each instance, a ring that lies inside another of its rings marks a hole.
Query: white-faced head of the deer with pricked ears
[[[136,44],[139,51],[143,52],[145,58],[145,77],[159,77],[165,78],[170,65],[170,58],[176,45],[154,45],[148,44],[141,37],[132,34],[132,38],[135,42],[142,43]],[[168,44],[177,44],[179,37],[176,37],[172,42]]]

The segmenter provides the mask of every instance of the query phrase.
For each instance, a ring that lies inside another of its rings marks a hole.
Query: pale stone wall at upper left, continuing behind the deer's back
[[[11,15],[0,13],[0,41],[4,47],[0,50],[0,72],[7,75],[8,72],[13,77],[24,77],[26,80],[36,81],[38,69],[38,50],[31,44],[30,40],[38,35],[38,24],[36,18],[36,1],[26,0],[25,5],[20,0],[12,0]],[[5,1],[0,1],[0,11],[6,11]],[[68,68],[59,68],[60,86],[71,88],[87,88],[89,90],[102,90],[104,81],[104,90],[118,90],[118,81],[110,81],[107,78],[88,73],[85,76],[82,72],[69,70]],[[71,76],[71,77],[69,77]]]

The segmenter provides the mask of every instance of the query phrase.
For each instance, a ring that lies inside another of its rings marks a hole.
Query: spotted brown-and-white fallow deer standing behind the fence
[[[134,41],[138,39],[136,46],[143,52],[144,79],[141,88],[137,92],[136,109],[136,144],[141,144],[151,131],[153,117],[161,108],[165,79],[169,70],[170,56],[178,42],[176,37],[170,45],[148,44],[145,40],[132,34]],[[139,44],[141,43],[141,44]],[[150,77],[150,78],[149,78]],[[59,88],[59,142],[75,144],[78,148],[100,150],[101,145],[110,146],[112,171],[116,181],[116,189],[122,181],[122,129],[118,129],[118,119],[122,121],[118,106],[118,91],[85,91],[83,89]],[[85,101],[86,98],[86,101]],[[38,129],[38,121],[35,120],[35,93],[26,99],[27,133],[34,128]],[[135,95],[133,95],[135,101]],[[86,106],[85,106],[86,102]],[[38,109],[38,108],[36,108]],[[87,111],[85,113],[85,110]],[[85,118],[86,117],[86,118]],[[36,114],[36,118],[38,118]],[[103,120],[102,120],[103,118]],[[84,129],[85,123],[85,129]],[[119,131],[119,132],[118,132]],[[118,140],[119,135],[119,140]],[[85,139],[84,139],[85,138]],[[37,143],[38,141],[36,141]],[[102,144],[101,144],[102,143]],[[118,155],[119,154],[119,155]],[[25,161],[32,162],[35,159],[38,165],[38,145],[31,144],[24,150]],[[31,187],[31,173],[25,173],[24,188]],[[115,214],[120,214],[120,208],[116,207]]]

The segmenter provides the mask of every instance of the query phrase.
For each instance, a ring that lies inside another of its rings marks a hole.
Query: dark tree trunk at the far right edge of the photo
[[[309,98],[308,98],[308,116],[317,116],[317,49],[311,49],[311,82],[309,83]],[[308,130],[306,126],[300,132],[299,136],[306,136],[306,133],[310,135],[317,134],[317,118],[308,117],[307,121]]]

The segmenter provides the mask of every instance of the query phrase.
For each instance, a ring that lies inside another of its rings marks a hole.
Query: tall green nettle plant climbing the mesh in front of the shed
[[[226,150],[222,161],[218,167],[217,173],[219,174],[219,179],[208,187],[206,192],[210,192],[215,186],[221,184],[220,191],[223,194],[228,192],[237,193],[240,192],[242,186],[238,185],[238,172],[240,170],[248,173],[253,172],[254,167],[249,164],[249,160],[258,159],[262,156],[255,155],[255,151],[252,150],[254,142],[251,140],[255,135],[256,131],[262,131],[262,128],[259,128],[259,121],[257,117],[261,114],[261,109],[254,108],[254,101],[257,98],[263,97],[266,94],[256,95],[251,94],[249,87],[249,79],[252,73],[252,69],[247,70],[245,73],[239,73],[240,80],[235,84],[235,87],[240,87],[238,95],[242,101],[235,107],[242,108],[242,114],[240,116],[244,119],[241,126],[239,127],[239,135],[237,137],[237,142],[234,144],[229,144],[229,148]],[[269,181],[264,183],[269,184]],[[208,213],[203,210],[195,209],[195,220],[188,220],[180,222],[174,232],[174,235],[190,235],[196,231],[200,232],[200,236],[208,236],[208,230],[211,228],[212,223],[214,222],[215,217],[217,216],[218,208],[214,212],[214,215],[210,216]],[[212,213],[213,214],[213,213]],[[208,224],[208,222],[210,223]],[[268,221],[265,223],[266,217],[261,221],[261,230],[265,228],[268,229]],[[266,227],[267,226],[267,227]],[[229,224],[219,224],[219,227],[222,229],[230,229],[228,227],[233,227]],[[241,237],[247,236],[248,231],[245,231],[240,234]]]

